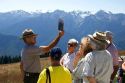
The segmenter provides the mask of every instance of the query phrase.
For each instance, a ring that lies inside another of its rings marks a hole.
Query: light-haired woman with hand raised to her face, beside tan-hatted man
[[[82,78],[80,77],[83,66],[84,66],[84,57],[87,53],[92,51],[92,48],[89,44],[89,37],[83,37],[81,39],[81,44],[79,50],[77,51],[76,57],[73,61],[74,70],[73,70],[73,83],[83,83]],[[84,45],[84,46],[83,46]]]

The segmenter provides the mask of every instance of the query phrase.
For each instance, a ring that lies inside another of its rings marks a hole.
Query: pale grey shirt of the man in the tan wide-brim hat
[[[113,61],[107,50],[90,52],[85,56],[84,61],[83,83],[89,83],[86,76],[94,77],[97,83],[110,83]]]

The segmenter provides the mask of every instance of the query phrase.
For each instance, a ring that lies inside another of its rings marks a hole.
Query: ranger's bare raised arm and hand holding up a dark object
[[[48,46],[41,46],[40,48],[46,53],[51,48],[53,48],[60,40],[60,38],[64,35],[64,31],[59,31],[58,36],[48,45]]]

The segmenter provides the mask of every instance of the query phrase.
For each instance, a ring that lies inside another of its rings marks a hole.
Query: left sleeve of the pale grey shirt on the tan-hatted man
[[[85,63],[83,67],[82,76],[94,77],[95,61],[92,52],[85,56]]]

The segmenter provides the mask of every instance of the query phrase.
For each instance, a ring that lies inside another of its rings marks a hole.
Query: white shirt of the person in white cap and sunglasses
[[[63,65],[68,68],[71,72],[73,71],[74,67],[73,67],[73,61],[74,58],[76,56],[76,53],[66,53],[62,58],[63,58]]]

